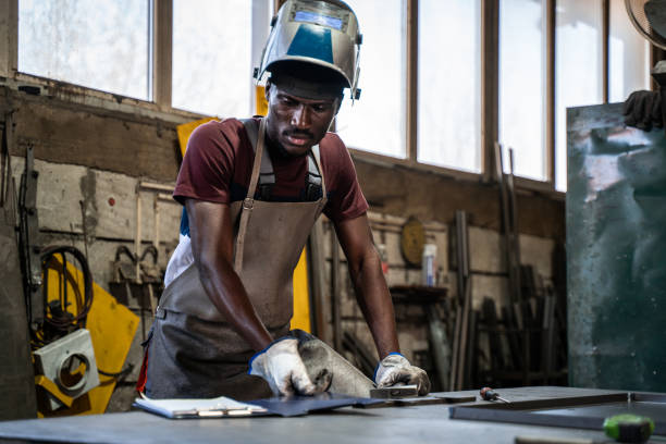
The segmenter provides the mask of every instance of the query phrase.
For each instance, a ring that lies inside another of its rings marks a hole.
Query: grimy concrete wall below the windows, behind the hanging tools
[[[134,249],[137,221],[137,189],[141,181],[173,185],[180,162],[175,126],[193,116],[128,112],[122,98],[118,102],[97,100],[96,104],[73,103],[57,85],[48,96],[33,96],[0,87],[0,104],[13,109],[15,144],[11,147],[14,176],[22,170],[28,145],[34,147],[36,169],[40,172],[38,211],[40,229],[48,243],[87,246],[95,280],[102,287],[113,278],[111,262],[120,245]],[[1,107],[0,107],[1,108]],[[378,244],[387,250],[390,285],[420,280],[420,270],[409,268],[399,251],[399,227],[414,215],[425,223],[429,242],[439,246],[441,285],[455,294],[455,269],[449,260],[449,231],[455,210],[469,214],[472,293],[474,305],[483,296],[497,301],[507,298],[506,264],[498,234],[498,192],[494,185],[461,181],[442,174],[424,173],[405,166],[370,161],[354,155],[361,187],[371,203],[371,220]],[[16,182],[18,183],[18,182]],[[156,193],[138,192],[141,198],[141,249],[155,240]],[[157,200],[159,211],[159,263],[165,266],[177,242],[181,208]],[[82,212],[83,210],[83,212]],[[545,280],[552,280],[558,263],[553,251],[564,239],[564,202],[532,192],[518,195],[520,248],[523,263],[533,264]],[[84,221],[86,243],[84,243]],[[324,234],[331,227],[324,223]],[[87,244],[87,245],[86,245]],[[330,246],[330,242],[324,245]],[[330,270],[331,250],[325,256]],[[453,255],[455,256],[455,255]],[[341,260],[344,255],[341,252]],[[374,350],[368,329],[360,318],[343,263],[343,326],[354,331]],[[330,273],[330,271],[328,271]],[[330,274],[329,274],[330,275]],[[330,287],[330,282],[326,283]],[[330,297],[330,295],[329,295]],[[419,307],[397,307],[399,340],[410,358],[428,349],[424,316]],[[146,320],[149,325],[150,319]],[[139,328],[139,335],[143,329]],[[130,360],[137,365],[137,344]],[[110,409],[126,408],[130,381],[114,395]]]

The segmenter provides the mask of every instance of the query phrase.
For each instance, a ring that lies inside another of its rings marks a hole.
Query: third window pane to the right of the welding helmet
[[[547,178],[544,38],[542,0],[501,1],[499,141],[514,149],[515,173],[539,181]]]

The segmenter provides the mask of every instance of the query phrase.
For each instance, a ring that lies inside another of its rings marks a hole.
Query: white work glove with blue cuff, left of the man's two
[[[314,395],[331,385],[332,375],[324,369],[312,381],[298,354],[298,340],[285,336],[249,361],[249,374],[263,378],[275,395]]]

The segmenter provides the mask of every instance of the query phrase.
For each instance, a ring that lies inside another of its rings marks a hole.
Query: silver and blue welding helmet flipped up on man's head
[[[335,73],[351,99],[358,99],[361,35],[354,11],[340,0],[287,0],[271,23],[255,77],[289,66],[313,64]]]

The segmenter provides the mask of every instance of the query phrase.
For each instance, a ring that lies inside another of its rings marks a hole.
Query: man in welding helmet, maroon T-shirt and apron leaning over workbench
[[[288,334],[293,271],[321,212],[335,226],[382,359],[377,384],[428,393],[425,372],[399,355],[354,165],[326,133],[344,88],[357,97],[359,45],[356,16],[342,1],[288,0],[258,73],[271,73],[267,118],[193,133],[174,190],[185,207],[181,243],[147,342],[148,397],[252,399],[326,388],[310,379]]]

